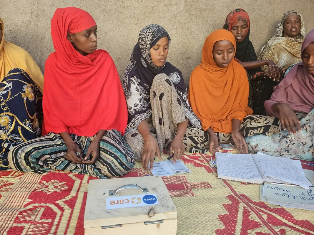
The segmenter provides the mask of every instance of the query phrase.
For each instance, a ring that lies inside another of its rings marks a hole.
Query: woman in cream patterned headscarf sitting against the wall
[[[302,15],[288,11],[278,23],[276,34],[267,41],[258,56],[259,60],[273,60],[276,65],[286,70],[301,61],[300,50],[306,35]],[[263,66],[268,71],[267,66]]]

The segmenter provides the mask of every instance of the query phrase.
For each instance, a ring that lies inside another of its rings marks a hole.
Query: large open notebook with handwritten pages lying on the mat
[[[216,154],[218,178],[247,183],[263,182],[313,186],[306,178],[300,160],[259,154]]]

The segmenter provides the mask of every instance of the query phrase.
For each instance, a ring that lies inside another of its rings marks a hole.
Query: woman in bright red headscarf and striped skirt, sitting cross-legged
[[[58,8],[51,37],[55,52],[45,64],[43,136],[13,148],[10,166],[98,178],[125,175],[134,166],[122,138],[127,106],[111,56],[96,50],[95,20],[79,8]]]

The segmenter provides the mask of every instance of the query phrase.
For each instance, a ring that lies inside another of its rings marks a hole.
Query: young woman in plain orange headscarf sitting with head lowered
[[[187,135],[194,143],[201,139],[202,143],[196,143],[194,151],[208,149],[209,140],[211,153],[218,151],[222,142],[233,143],[241,152],[247,153],[244,136],[269,134],[270,129],[275,129],[273,133],[279,132],[279,128],[272,125],[275,118],[251,115],[247,74],[234,60],[235,51],[236,41],[232,33],[225,29],[216,30],[206,38],[201,64],[192,71],[188,99],[205,131],[197,138]]]

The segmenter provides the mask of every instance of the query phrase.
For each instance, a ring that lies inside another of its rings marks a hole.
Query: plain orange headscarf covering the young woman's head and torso
[[[221,40],[230,41],[236,50],[236,40],[228,30],[218,29],[206,38],[201,64],[190,77],[188,99],[204,131],[211,127],[214,132],[230,133],[232,119],[242,121],[253,111],[247,106],[249,83],[246,70],[236,60],[225,68],[214,62],[214,44]]]

